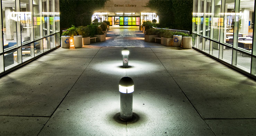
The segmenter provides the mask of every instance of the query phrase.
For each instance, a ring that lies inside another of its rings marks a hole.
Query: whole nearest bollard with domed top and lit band
[[[124,121],[132,119],[132,94],[134,83],[131,77],[125,76],[119,81],[120,117]]]

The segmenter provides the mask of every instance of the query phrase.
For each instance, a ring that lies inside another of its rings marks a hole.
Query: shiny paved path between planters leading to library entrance
[[[91,43],[89,46],[167,47],[160,43],[145,42],[144,34],[136,26],[111,26],[106,35],[106,41]]]

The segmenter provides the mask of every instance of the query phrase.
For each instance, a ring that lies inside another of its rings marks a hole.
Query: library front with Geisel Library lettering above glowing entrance
[[[105,3],[104,8],[95,11],[92,21],[99,22],[107,20],[110,25],[139,26],[143,21],[152,21],[158,16],[155,11],[145,7],[149,0],[110,0]]]

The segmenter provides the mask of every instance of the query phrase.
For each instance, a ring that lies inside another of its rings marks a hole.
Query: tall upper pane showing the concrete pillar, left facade
[[[16,21],[18,20],[15,15],[15,1],[2,2],[2,20],[3,20],[3,44],[4,50],[9,50],[17,46],[17,29]]]

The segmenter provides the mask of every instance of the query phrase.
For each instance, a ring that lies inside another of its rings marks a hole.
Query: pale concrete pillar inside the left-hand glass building
[[[5,7],[6,40],[14,40],[13,20],[11,19],[12,7]]]

